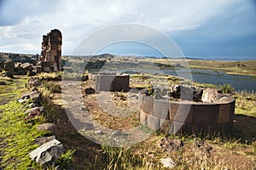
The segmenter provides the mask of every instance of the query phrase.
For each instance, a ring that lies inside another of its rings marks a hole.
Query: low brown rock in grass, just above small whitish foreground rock
[[[179,139],[169,139],[167,137],[160,139],[160,141],[158,142],[158,147],[164,152],[180,150],[183,145],[183,141]]]

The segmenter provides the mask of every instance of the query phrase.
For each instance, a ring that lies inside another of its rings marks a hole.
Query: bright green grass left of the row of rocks
[[[0,105],[1,165],[4,169],[38,168],[28,153],[38,147],[34,140],[44,135],[35,125],[26,123],[24,108],[16,101]],[[38,124],[38,122],[36,122]]]

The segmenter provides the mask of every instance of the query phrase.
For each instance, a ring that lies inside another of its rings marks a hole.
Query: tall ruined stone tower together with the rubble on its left
[[[39,59],[30,59],[23,62],[13,59],[1,59],[0,71],[8,75],[34,76],[39,72],[61,71],[61,31],[55,29],[43,36],[42,52]]]

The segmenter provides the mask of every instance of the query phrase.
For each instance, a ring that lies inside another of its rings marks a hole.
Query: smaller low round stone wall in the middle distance
[[[130,75],[89,74],[89,80],[95,82],[99,91],[129,91]]]

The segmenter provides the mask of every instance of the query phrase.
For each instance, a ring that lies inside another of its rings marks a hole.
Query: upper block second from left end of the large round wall
[[[169,102],[166,99],[154,99],[152,115],[160,119],[170,120]]]

